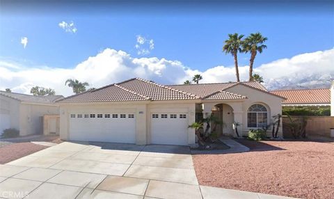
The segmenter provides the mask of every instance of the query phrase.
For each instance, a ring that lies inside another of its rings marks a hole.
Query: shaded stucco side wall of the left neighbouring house
[[[56,105],[24,104],[19,106],[19,134],[42,134],[42,116],[59,114]]]

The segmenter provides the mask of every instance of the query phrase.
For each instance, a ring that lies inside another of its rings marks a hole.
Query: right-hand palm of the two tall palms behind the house
[[[243,44],[243,51],[250,52],[249,59],[249,81],[253,80],[253,64],[257,52],[262,53],[263,49],[267,46],[263,43],[267,41],[268,38],[264,38],[261,33],[251,33],[245,40]]]

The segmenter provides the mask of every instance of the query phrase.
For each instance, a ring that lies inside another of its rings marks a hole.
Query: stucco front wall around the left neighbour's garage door
[[[0,113],[9,114],[10,128],[15,128],[18,130],[19,130],[19,104],[20,102],[18,100],[14,100],[13,98],[0,95]]]

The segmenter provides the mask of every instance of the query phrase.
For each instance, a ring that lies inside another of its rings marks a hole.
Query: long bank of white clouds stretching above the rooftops
[[[283,86],[319,86],[334,79],[334,49],[300,54],[255,68],[264,77],[267,88]],[[241,80],[246,80],[248,66],[239,67]],[[234,67],[216,66],[205,71],[193,70],[180,61],[166,58],[133,58],[125,51],[104,49],[74,68],[24,67],[10,61],[0,61],[0,90],[29,93],[32,86],[54,88],[56,93],[71,95],[66,79],[87,81],[99,88],[133,77],[158,83],[183,83],[193,74],[202,74],[202,83],[235,81]]]

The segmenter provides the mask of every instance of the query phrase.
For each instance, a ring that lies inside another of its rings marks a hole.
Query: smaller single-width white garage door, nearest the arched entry
[[[188,117],[186,113],[152,113],[151,143],[188,145]]]

